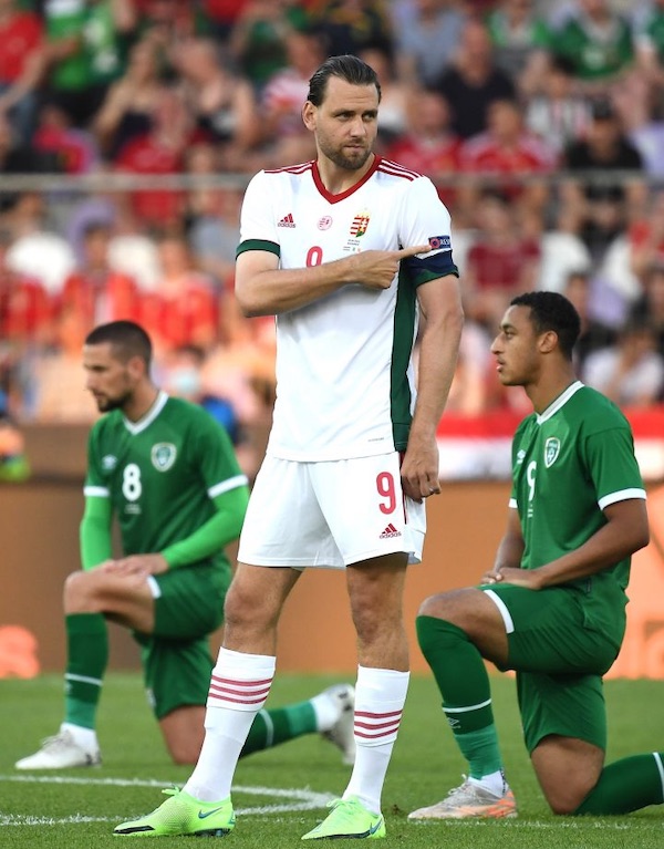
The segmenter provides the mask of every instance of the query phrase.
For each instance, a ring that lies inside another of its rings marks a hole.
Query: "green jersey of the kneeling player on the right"
[[[645,498],[632,432],[604,395],[575,382],[541,415],[521,422],[512,443],[510,506],[519,510],[523,569],[582,546],[606,522],[603,509],[629,498]],[[606,607],[624,608],[629,577],[625,558],[572,582],[587,597],[589,622],[610,621]]]

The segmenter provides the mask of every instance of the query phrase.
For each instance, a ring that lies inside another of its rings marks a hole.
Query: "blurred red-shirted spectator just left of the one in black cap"
[[[523,176],[550,174],[558,154],[540,136],[526,128],[521,107],[516,101],[497,100],[488,108],[484,133],[464,142],[460,169],[465,174],[491,175],[495,188],[527,211],[540,215],[549,199],[547,180],[523,183]],[[465,184],[460,203],[474,208],[479,196],[478,184]]]

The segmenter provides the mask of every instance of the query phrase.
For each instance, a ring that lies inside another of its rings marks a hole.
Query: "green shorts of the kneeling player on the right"
[[[509,644],[505,669],[516,670],[526,747],[551,734],[606,745],[602,675],[618,655],[615,635],[589,628],[583,597],[551,587],[481,589],[496,602]]]

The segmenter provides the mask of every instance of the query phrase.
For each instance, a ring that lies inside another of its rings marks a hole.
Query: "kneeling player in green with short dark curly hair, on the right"
[[[664,754],[604,766],[602,676],[624,635],[631,556],[647,545],[645,489],[621,411],[577,380],[580,320],[553,292],[511,301],[491,352],[535,412],[512,444],[507,531],[479,587],[428,598],[417,635],[468,778],[409,819],[516,816],[484,659],[516,670],[526,746],[554,814],[664,801]]]

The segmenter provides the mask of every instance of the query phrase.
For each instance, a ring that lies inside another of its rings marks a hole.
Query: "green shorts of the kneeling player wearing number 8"
[[[180,567],[155,576],[155,631],[135,634],[142,646],[147,697],[157,719],[176,707],[205,705],[214,660],[209,635],[224,619],[230,569]]]

